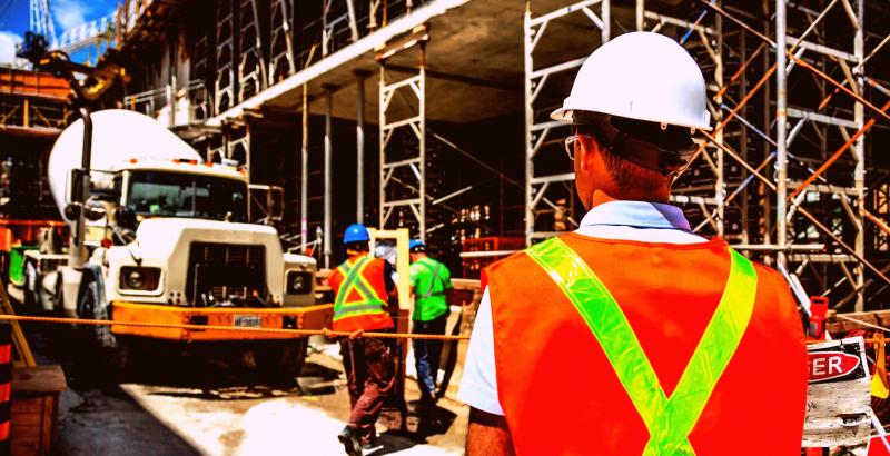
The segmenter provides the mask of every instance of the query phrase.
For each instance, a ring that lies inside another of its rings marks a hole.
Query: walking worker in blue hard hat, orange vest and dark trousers
[[[363,225],[346,228],[347,259],[328,277],[334,290],[335,331],[388,331],[393,328],[388,297],[395,296],[392,266],[369,255],[370,236]],[[360,456],[375,437],[374,424],[395,387],[394,339],[348,337],[340,354],[349,387],[349,424],[337,436],[349,456]]]

